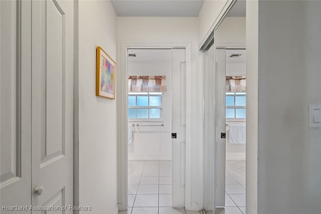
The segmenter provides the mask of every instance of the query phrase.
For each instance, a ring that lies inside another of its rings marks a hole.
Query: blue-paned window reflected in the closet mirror
[[[246,118],[246,93],[245,92],[227,92],[226,93],[226,118]]]

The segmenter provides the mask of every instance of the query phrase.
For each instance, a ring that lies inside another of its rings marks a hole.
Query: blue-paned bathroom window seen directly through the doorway
[[[129,92],[128,119],[161,119],[162,92]]]

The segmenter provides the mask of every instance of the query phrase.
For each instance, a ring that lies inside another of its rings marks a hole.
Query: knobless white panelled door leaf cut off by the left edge
[[[31,213],[3,208],[31,204],[31,2],[0,1],[0,10],[0,212]]]

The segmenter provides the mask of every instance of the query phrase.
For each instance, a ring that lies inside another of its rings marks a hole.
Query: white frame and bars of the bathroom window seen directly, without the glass
[[[137,106],[137,97],[148,97],[148,106]],[[148,109],[148,118],[137,118],[137,110],[135,111],[135,118],[129,118],[128,121],[163,121],[163,92],[128,92],[127,102],[129,97],[135,97],[135,106],[127,105],[127,114],[129,109]],[[161,105],[160,106],[150,106],[149,105],[149,97],[161,97]],[[149,118],[149,109],[160,109],[160,118]]]

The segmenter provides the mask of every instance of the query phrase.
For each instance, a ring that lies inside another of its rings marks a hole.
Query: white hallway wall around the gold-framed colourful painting
[[[97,214],[118,210],[116,100],[95,96],[96,46],[116,61],[116,22],[109,1],[79,1],[79,204]]]

